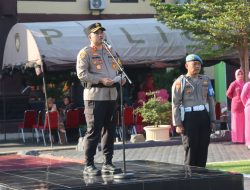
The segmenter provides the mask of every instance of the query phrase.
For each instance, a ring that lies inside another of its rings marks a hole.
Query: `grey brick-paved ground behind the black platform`
[[[18,145],[18,144],[17,144]],[[23,150],[39,150],[40,156],[43,157],[56,157],[60,159],[70,159],[77,162],[83,162],[83,152],[76,151],[74,145],[67,146],[54,146],[53,150],[50,147],[43,146],[17,146],[12,144],[8,147],[7,144],[0,144],[0,152],[2,154],[20,152],[20,147]],[[25,149],[26,147],[26,149]],[[146,142],[126,144],[125,151],[126,160],[151,160],[158,162],[168,162],[174,164],[183,163],[183,147],[179,137],[174,137],[169,142]],[[235,160],[248,160],[250,159],[250,150],[242,144],[232,144],[231,142],[211,142],[208,154],[209,162],[223,162]],[[123,160],[123,149],[121,144],[115,145],[115,153],[113,161]],[[98,151],[95,161],[102,162],[102,153]],[[128,170],[131,170],[128,168]],[[244,178],[245,190],[250,190],[250,178]]]

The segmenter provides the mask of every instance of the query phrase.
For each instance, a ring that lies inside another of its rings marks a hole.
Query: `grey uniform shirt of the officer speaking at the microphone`
[[[111,50],[117,59],[115,52]],[[83,92],[84,100],[116,100],[117,89],[115,87],[91,87],[99,84],[101,78],[113,79],[117,76],[117,65],[112,56],[103,47],[97,50],[87,46],[80,50],[76,63],[77,76],[82,84],[86,84]]]

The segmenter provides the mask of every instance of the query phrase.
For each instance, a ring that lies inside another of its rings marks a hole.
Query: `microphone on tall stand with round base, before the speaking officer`
[[[124,69],[121,67],[121,65],[118,63],[118,61],[113,56],[112,52],[110,51],[111,46],[103,41],[103,46],[107,50],[107,52],[110,54],[114,62],[116,63],[119,74],[120,74],[120,108],[121,108],[121,125],[122,125],[122,150],[123,150],[123,172],[119,174],[114,175],[114,179],[129,179],[134,177],[134,173],[127,172],[126,169],[126,153],[125,153],[125,126],[124,126],[124,109],[123,109],[123,90],[122,90],[122,78],[125,76],[129,84],[132,84],[132,81],[129,79],[128,75],[125,73]]]

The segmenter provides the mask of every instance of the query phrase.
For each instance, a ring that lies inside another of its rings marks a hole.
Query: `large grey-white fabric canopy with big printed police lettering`
[[[49,71],[74,68],[81,48],[89,44],[86,28],[100,22],[125,65],[173,61],[185,57],[190,41],[156,19],[17,23],[9,32],[3,69],[31,67],[44,61]]]

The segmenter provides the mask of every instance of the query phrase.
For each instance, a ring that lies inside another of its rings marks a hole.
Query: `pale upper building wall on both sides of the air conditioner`
[[[172,3],[175,0],[166,0]],[[154,14],[150,0],[138,0],[138,3],[110,3],[105,0],[106,8],[101,14]],[[49,1],[18,1],[18,13],[40,14],[90,14],[89,0],[76,0],[76,2],[49,2]]]

